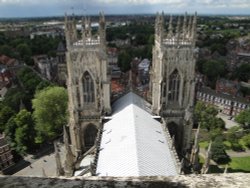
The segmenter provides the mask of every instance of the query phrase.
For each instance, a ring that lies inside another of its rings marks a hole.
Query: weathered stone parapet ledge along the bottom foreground
[[[168,188],[168,187],[241,187],[250,186],[250,174],[232,173],[232,174],[207,174],[207,175],[181,175],[175,177],[75,177],[75,178],[39,178],[39,177],[18,177],[18,176],[0,176],[1,188],[76,188],[76,187],[136,187],[136,188]]]

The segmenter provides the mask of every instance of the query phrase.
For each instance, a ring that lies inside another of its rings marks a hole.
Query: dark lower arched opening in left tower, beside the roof
[[[84,143],[87,150],[95,144],[96,136],[97,129],[95,125],[89,124],[84,132]]]

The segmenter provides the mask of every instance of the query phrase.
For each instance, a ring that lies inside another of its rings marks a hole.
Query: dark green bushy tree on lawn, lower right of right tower
[[[211,146],[211,153],[212,159],[219,164],[228,163],[230,160],[229,156],[225,151],[225,146],[223,144],[222,137],[215,138]]]

